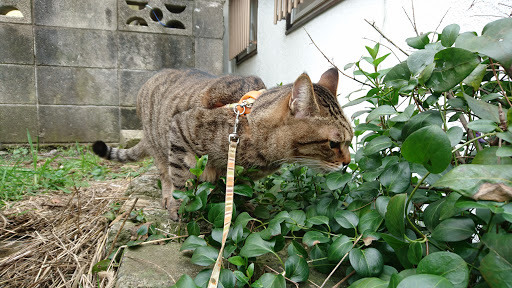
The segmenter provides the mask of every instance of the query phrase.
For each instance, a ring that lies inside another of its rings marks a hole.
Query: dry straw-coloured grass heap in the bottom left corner
[[[122,200],[128,182],[8,203],[0,211],[0,287],[112,287],[113,277],[97,279],[91,269],[106,257],[102,215]]]

